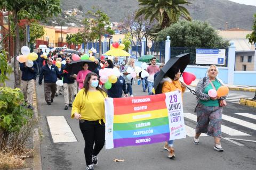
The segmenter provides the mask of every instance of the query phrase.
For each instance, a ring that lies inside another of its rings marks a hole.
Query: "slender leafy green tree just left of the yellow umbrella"
[[[95,10],[94,7],[92,7]],[[101,12],[98,8],[96,12],[89,11],[87,15],[91,17],[89,23],[91,25],[91,37],[97,37],[99,39],[100,51],[99,55],[101,56],[101,36],[108,33],[113,35],[115,32],[110,28],[110,21],[107,14]]]

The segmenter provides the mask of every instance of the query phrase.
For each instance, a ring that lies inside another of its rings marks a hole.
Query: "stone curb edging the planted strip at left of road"
[[[38,118],[38,109],[37,109],[37,95],[36,95],[36,84],[34,84],[34,94],[33,94],[33,106],[34,106],[34,116],[39,121]],[[39,123],[39,122],[38,122]],[[42,161],[41,161],[41,148],[40,148],[40,138],[38,128],[34,129],[33,134],[33,169],[42,170]]]

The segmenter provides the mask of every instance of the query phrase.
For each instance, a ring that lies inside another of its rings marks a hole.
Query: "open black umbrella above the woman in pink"
[[[66,65],[65,69],[70,74],[77,74],[80,70],[83,70],[83,64],[88,64],[88,70],[94,71],[97,67],[97,64],[94,63],[94,61],[91,60],[78,60],[73,61],[70,64]]]

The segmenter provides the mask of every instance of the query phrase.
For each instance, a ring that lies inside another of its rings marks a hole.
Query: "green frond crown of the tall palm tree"
[[[141,8],[136,13],[135,18],[145,15],[145,19],[150,22],[156,19],[164,29],[171,23],[175,23],[180,17],[191,21],[188,10],[183,5],[191,4],[187,0],[138,0]]]

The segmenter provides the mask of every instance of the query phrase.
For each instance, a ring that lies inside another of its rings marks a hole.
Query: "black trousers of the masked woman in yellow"
[[[102,120],[101,124],[99,121],[80,120],[79,127],[85,141],[85,162],[86,165],[91,165],[92,155],[97,156],[105,145],[105,123]]]

